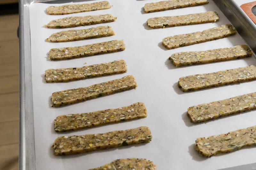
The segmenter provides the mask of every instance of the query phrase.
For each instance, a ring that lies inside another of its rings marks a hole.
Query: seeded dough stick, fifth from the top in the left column
[[[48,69],[45,71],[45,81],[73,81],[125,72],[127,72],[126,62],[124,60],[115,60],[84,67]]]

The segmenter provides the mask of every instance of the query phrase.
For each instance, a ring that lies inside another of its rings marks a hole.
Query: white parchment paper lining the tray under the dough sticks
[[[255,92],[255,81],[187,93],[182,92],[178,88],[177,81],[180,77],[186,75],[209,73],[256,64],[255,58],[250,57],[180,68],[174,67],[171,61],[168,60],[168,57],[172,53],[231,47],[245,44],[244,40],[236,34],[228,38],[172,50],[165,49],[161,44],[162,39],[167,36],[203,31],[204,29],[229,23],[228,19],[216,5],[210,0],[209,4],[203,6],[146,14],[142,7],[145,3],[156,2],[155,0],[109,0],[109,2],[113,7],[108,10],[59,16],[47,15],[45,9],[51,5],[61,4],[34,3],[30,5],[36,168],[38,170],[84,170],[104,165],[114,159],[129,157],[150,159],[157,164],[160,170],[220,169],[254,163],[256,160],[256,147],[241,149],[240,151],[229,154],[219,154],[212,158],[203,158],[194,150],[194,144],[198,137],[226,133],[255,125],[256,111],[248,111],[202,124],[192,124],[186,115],[186,111],[188,107],[196,104]],[[146,25],[147,19],[152,17],[185,15],[204,11],[217,11],[220,15],[220,21],[164,29],[150,29]],[[112,14],[117,17],[117,20],[112,23],[67,29],[49,29],[43,27],[44,24],[47,24],[52,19],[99,14]],[[49,43],[44,41],[44,39],[48,38],[54,32],[68,29],[85,29],[100,25],[110,25],[115,30],[116,35],[63,43]],[[47,57],[47,52],[51,48],[82,46],[114,39],[124,39],[126,50],[118,53],[65,61],[50,61]],[[82,67],[85,66],[84,62],[88,62],[86,65],[92,65],[119,59],[124,59],[127,62],[128,72],[125,74],[66,83],[45,83],[44,81],[44,71],[49,68]],[[130,74],[134,75],[137,80],[137,89],[65,107],[50,107],[50,98],[55,91],[87,87],[95,83],[121,78]],[[118,108],[139,101],[146,104],[148,110],[147,118],[67,133],[56,133],[54,131],[53,121],[59,115]],[[114,130],[126,130],[143,125],[148,126],[153,135],[152,141],[146,145],[126,146],[70,156],[53,156],[51,145],[55,138],[59,136],[104,133]]]

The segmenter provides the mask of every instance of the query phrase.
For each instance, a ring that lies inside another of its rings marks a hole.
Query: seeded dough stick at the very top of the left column
[[[105,10],[111,8],[108,1],[95,2],[91,4],[73,4],[62,6],[49,6],[46,8],[46,13],[49,15],[64,15],[78,12],[87,12],[95,10]]]

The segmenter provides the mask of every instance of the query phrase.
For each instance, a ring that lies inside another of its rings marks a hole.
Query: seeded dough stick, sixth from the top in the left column
[[[89,87],[68,89],[52,93],[52,107],[65,106],[90,100],[100,96],[111,95],[117,92],[135,89],[137,83],[132,75],[127,75],[121,79],[115,79]]]

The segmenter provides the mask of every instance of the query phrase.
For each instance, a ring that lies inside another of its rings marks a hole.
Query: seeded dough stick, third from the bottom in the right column
[[[180,77],[178,86],[184,92],[256,79],[256,66]]]

